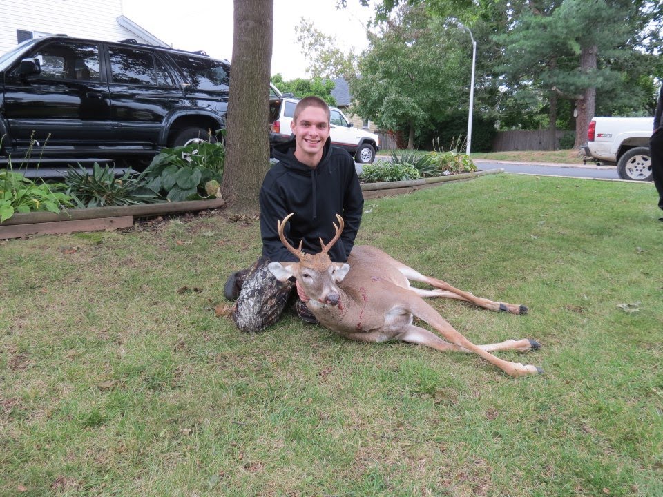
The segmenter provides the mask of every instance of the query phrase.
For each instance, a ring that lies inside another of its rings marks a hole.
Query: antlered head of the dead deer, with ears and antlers
[[[343,217],[336,214],[338,226],[336,223],[332,223],[336,228],[334,238],[326,245],[323,239],[320,238],[322,250],[316,254],[307,254],[302,251],[302,242],[299,244],[299,249],[295,249],[283,234],[285,224],[293,215],[294,213],[290,213],[282,222],[278,222],[278,237],[285,248],[299,259],[299,262],[271,262],[268,266],[269,271],[277,280],[282,282],[295,277],[304,293],[311,300],[324,305],[338,305],[340,290],[336,283],[343,281],[350,270],[350,266],[343,262],[332,262],[327,252],[334,246],[340,238],[340,233],[343,232]]]

